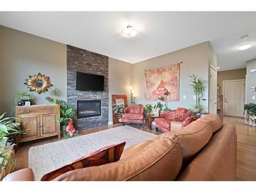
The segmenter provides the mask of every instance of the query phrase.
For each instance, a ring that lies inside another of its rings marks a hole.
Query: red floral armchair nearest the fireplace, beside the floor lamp
[[[131,104],[124,109],[123,125],[125,123],[143,123],[144,107],[141,104]]]

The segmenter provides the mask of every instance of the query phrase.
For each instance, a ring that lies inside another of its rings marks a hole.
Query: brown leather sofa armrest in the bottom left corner
[[[24,168],[8,174],[3,181],[34,181],[35,176],[31,168]]]

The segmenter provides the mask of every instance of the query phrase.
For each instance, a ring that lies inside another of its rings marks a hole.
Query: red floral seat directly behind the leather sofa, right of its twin
[[[177,108],[176,110],[169,110],[160,114],[163,118],[155,118],[156,131],[160,129],[163,132],[170,131],[170,124],[172,121],[183,122],[187,117],[191,115],[191,112],[185,108]]]

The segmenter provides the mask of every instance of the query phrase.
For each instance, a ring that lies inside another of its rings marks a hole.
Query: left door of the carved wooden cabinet
[[[19,134],[19,141],[33,140],[40,137],[40,116],[26,115],[20,116],[20,127],[26,130],[26,134]]]

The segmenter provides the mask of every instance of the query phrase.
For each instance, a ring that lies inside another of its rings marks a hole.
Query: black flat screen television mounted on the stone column
[[[76,72],[76,90],[104,91],[104,76]]]

